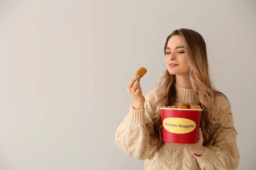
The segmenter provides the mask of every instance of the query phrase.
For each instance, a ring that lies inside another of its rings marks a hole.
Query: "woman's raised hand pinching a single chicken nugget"
[[[136,83],[134,83],[136,82]],[[127,85],[127,91],[133,97],[132,107],[136,110],[140,110],[144,108],[145,97],[142,95],[141,87],[140,87],[140,76],[136,76]]]

